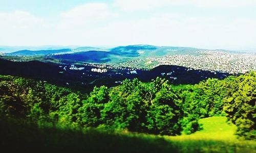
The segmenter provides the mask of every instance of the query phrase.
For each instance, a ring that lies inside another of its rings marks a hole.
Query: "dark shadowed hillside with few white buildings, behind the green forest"
[[[88,53],[90,55],[90,52],[83,53]],[[72,54],[70,55],[70,58],[75,58],[74,55],[83,53]],[[88,54],[83,57],[89,56]],[[58,56],[62,57],[66,55]],[[108,68],[108,72],[106,73],[97,73],[91,71],[92,68],[97,68],[96,65],[76,66],[83,67],[84,69],[70,70],[70,65],[68,64],[45,63],[39,61],[12,62],[0,59],[0,74],[48,81],[55,85],[68,86],[81,89],[82,91],[90,91],[94,86],[101,85],[108,87],[117,86],[124,79],[139,78],[143,82],[150,82],[152,79],[161,77],[169,80],[170,83],[177,85],[196,84],[208,78],[223,79],[230,75],[228,73],[195,70],[175,65],[161,65],[152,70],[136,70],[136,74],[131,74],[132,70],[129,70],[129,68]],[[64,70],[64,67],[66,70]]]

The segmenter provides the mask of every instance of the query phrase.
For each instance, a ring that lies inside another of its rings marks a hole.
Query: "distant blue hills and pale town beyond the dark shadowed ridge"
[[[5,53],[0,58],[19,62],[36,60],[69,65],[94,63],[147,70],[159,65],[177,65],[230,74],[256,70],[256,53],[153,45],[18,50]]]

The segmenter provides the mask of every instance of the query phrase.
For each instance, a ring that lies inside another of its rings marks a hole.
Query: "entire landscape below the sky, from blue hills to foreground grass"
[[[3,53],[0,129],[12,142],[23,137],[12,131],[24,133],[14,150],[32,151],[37,140],[56,152],[51,146],[102,151],[91,147],[99,143],[122,152],[253,152],[255,63],[255,53],[152,45]]]

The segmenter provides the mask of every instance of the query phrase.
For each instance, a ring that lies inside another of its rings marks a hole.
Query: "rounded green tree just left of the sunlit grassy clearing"
[[[150,109],[147,111],[147,127],[151,133],[177,135],[181,132],[183,112],[176,104],[177,96],[166,88],[156,93]]]

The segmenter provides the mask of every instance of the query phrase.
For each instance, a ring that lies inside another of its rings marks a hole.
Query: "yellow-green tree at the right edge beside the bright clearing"
[[[227,79],[224,111],[230,121],[238,126],[237,135],[255,139],[256,72]]]

